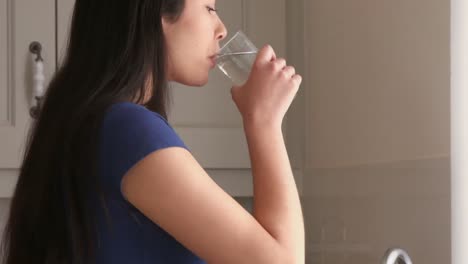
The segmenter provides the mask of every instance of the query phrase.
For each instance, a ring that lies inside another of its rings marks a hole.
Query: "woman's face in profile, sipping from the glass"
[[[162,19],[166,38],[167,79],[189,86],[203,86],[215,67],[219,41],[226,27],[218,17],[216,0],[186,0],[176,22]]]

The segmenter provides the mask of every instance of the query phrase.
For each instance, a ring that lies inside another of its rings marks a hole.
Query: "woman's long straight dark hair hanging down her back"
[[[92,260],[94,216],[88,207],[90,195],[99,192],[100,123],[120,101],[167,118],[161,19],[175,22],[184,4],[76,0],[63,62],[29,130],[4,231],[5,264]]]

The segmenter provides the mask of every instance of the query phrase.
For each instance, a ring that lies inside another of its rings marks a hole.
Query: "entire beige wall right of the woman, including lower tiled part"
[[[307,263],[450,263],[450,1],[290,5]]]

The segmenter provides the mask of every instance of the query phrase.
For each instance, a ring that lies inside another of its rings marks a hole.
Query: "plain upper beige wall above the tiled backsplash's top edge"
[[[305,2],[307,165],[447,156],[450,1]]]

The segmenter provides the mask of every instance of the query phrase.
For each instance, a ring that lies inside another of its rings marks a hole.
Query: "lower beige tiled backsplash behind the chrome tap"
[[[390,247],[450,263],[449,170],[444,158],[309,171],[307,263],[379,263]]]

